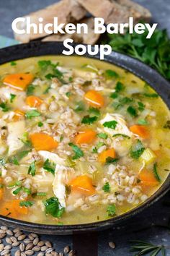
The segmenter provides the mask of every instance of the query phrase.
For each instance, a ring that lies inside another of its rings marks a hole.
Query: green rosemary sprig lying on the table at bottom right
[[[150,256],[156,256],[161,252],[162,256],[165,256],[164,245],[154,245],[145,241],[133,240],[130,247],[130,252],[137,252],[134,256],[146,255],[150,253]]]

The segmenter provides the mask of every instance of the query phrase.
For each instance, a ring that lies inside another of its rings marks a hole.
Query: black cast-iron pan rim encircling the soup
[[[73,45],[76,46],[76,45]],[[11,46],[3,48],[0,50],[0,64],[4,64],[8,61],[14,61],[17,59],[24,59],[32,56],[45,56],[45,55],[60,55],[62,54],[64,47],[63,43],[56,42],[34,42],[26,43],[17,46]],[[99,59],[99,54],[96,56],[85,55],[89,58]],[[69,57],[68,57],[69,58]],[[118,54],[117,52],[112,52],[109,56],[106,56],[104,61],[107,61],[112,64],[116,64],[119,67],[125,68],[133,74],[137,75],[141,79],[148,82],[156,92],[161,96],[166,105],[170,108],[170,84],[163,77],[161,77],[158,72],[146,66],[142,62],[125,56],[123,54]],[[22,230],[34,231],[41,234],[72,234],[73,232],[88,232],[88,231],[97,231],[101,229],[107,229],[120,222],[127,221],[128,218],[135,216],[137,213],[140,213],[142,210],[148,208],[152,205],[153,202],[156,202],[160,199],[170,187],[170,174],[164,184],[154,193],[151,197],[143,202],[142,205],[134,208],[133,210],[124,213],[121,216],[115,218],[99,221],[96,223],[88,224],[79,224],[79,225],[66,225],[66,226],[54,226],[54,225],[45,225],[30,223],[26,221],[18,221],[13,218],[0,216],[0,222],[4,225],[9,225],[12,227],[17,227]]]

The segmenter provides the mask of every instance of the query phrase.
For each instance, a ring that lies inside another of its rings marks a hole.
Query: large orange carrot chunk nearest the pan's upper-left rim
[[[27,73],[9,74],[4,78],[3,82],[14,89],[25,90],[33,78],[32,74]]]

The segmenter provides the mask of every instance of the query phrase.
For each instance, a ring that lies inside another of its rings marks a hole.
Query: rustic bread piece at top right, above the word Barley
[[[102,17],[108,23],[125,23],[133,17],[134,23],[140,20],[149,22],[151,12],[130,0],[77,0],[94,17]]]

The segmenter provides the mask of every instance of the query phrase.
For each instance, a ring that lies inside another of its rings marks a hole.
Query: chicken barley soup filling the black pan
[[[170,116],[104,61],[42,56],[0,67],[0,214],[102,221],[147,200],[170,168]]]

